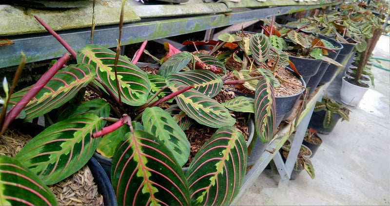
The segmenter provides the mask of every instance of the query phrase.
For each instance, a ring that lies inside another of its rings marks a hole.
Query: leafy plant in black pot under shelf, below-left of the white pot
[[[321,102],[316,102],[309,127],[317,132],[328,135],[336,126],[338,120],[349,121],[350,110],[331,99],[323,97]]]

